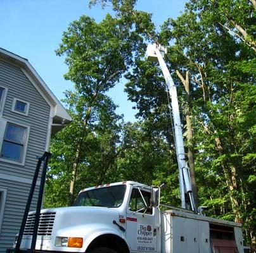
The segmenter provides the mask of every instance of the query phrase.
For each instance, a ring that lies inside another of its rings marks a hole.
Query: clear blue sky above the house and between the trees
[[[100,21],[110,8],[88,8],[88,0],[0,0],[0,47],[29,59],[58,99],[73,84],[64,80],[67,72],[64,58],[54,50],[61,42],[63,31],[80,15]],[[184,9],[186,0],[138,0],[136,9],[153,13],[157,27],[167,18],[176,18]],[[124,83],[119,83],[109,96],[119,105],[117,113],[125,121],[134,121],[135,111],[127,101]]]

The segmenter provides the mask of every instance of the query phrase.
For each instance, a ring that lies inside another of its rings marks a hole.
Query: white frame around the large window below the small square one
[[[1,156],[1,153],[3,150],[4,137],[6,134],[6,129],[7,129],[8,123],[10,123],[11,125],[16,125],[18,127],[26,128],[25,129],[25,140],[23,142],[23,149],[22,149],[22,155],[21,155],[20,161],[16,161],[14,159],[9,159],[9,158]],[[27,154],[27,147],[29,144],[30,126],[24,125],[22,123],[18,123],[15,121],[11,121],[11,120],[8,120],[8,121],[0,120],[0,128],[4,129],[3,133],[0,133],[0,161],[4,161],[6,163],[18,164],[18,165],[25,165],[25,157]]]

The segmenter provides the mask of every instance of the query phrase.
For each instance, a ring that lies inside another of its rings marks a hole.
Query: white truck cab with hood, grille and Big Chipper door
[[[74,206],[41,210],[35,249],[58,252],[160,252],[156,188],[119,182],[81,190]],[[158,202],[158,200],[157,200]],[[27,218],[21,249],[29,249],[35,212]]]

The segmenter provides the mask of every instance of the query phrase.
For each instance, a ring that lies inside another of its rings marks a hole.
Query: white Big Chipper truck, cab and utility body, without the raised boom
[[[158,202],[152,203],[158,194],[157,188],[137,182],[86,188],[72,207],[41,210],[35,250],[243,252],[239,223],[174,207],[160,211]],[[34,216],[29,213],[21,249],[30,249]]]

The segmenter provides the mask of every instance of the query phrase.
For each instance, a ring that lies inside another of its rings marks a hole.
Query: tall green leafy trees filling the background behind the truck
[[[165,179],[163,201],[179,204],[165,82],[158,63],[144,61],[148,42],[159,42],[178,89],[198,202],[209,215],[243,219],[247,240],[255,241],[255,1],[190,0],[159,30],[136,0],[89,2],[112,4],[115,16],[99,23],[82,16],[57,50],[75,83],[66,100],[74,122],[53,139],[48,199],[60,204],[50,192],[69,181],[74,197],[74,189],[108,180]],[[136,102],[136,123],[121,122],[106,96],[120,78]]]

